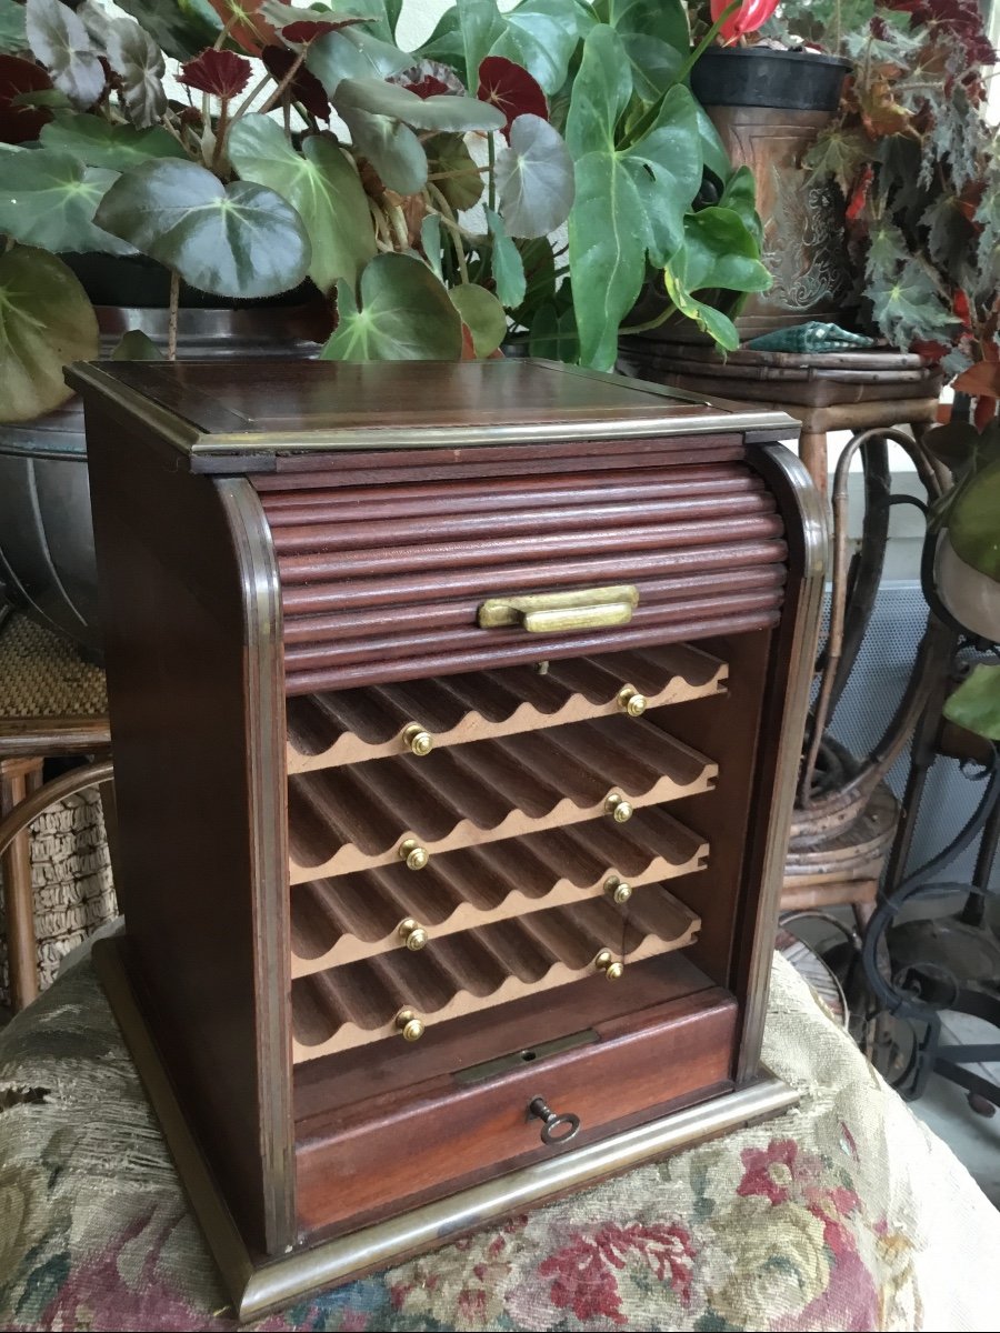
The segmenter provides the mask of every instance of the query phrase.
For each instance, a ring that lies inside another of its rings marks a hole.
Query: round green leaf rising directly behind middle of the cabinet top
[[[427,264],[376,255],[361,273],[360,307],[337,283],[337,328],[320,356],[328,361],[457,361],[461,316]]]

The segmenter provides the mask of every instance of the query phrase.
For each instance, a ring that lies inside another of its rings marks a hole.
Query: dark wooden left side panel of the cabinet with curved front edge
[[[293,1197],[267,533],[232,492],[247,483],[177,471],[93,401],[87,432],[132,974],[247,1242],[275,1253]]]

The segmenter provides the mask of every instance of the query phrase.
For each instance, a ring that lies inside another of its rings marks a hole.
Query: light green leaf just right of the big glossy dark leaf
[[[311,135],[299,155],[269,116],[244,116],[229,131],[229,161],[241,180],[268,185],[299,213],[312,245],[309,277],[321,292],[352,287],[375,256],[375,228],[357,171],[332,139]]]

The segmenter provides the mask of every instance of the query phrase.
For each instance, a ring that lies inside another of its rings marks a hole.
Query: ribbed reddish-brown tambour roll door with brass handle
[[[781,520],[743,463],[260,489],[291,694],[760,629],[781,605]]]

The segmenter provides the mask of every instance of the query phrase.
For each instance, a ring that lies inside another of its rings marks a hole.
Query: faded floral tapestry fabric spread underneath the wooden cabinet
[[[995,1329],[1000,1217],[776,960],[785,1116],[259,1329]],[[232,1329],[89,962],[0,1034],[0,1326]]]

